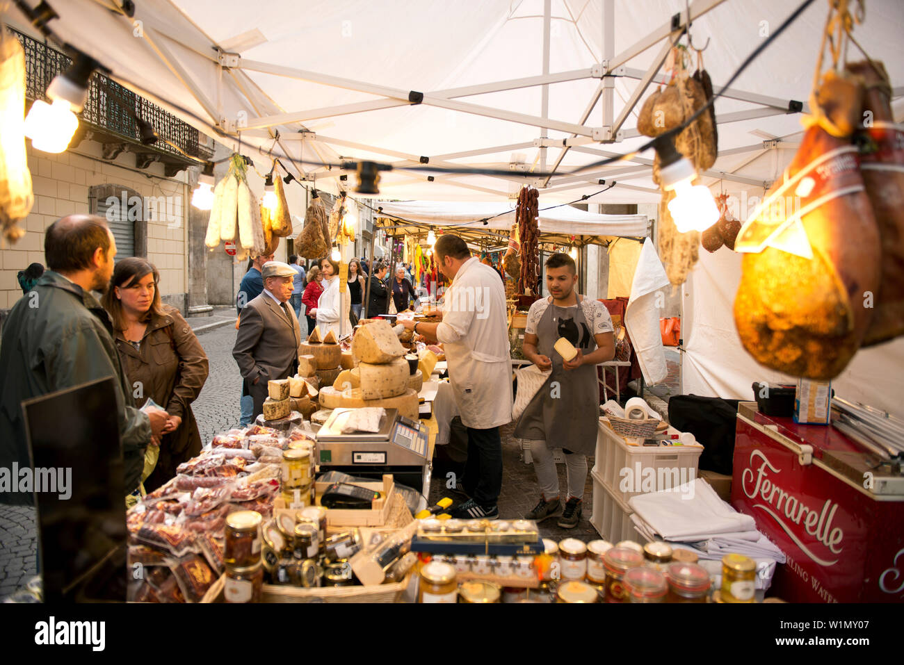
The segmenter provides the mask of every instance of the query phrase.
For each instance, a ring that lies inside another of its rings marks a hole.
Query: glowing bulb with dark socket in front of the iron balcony
[[[85,106],[88,81],[98,66],[98,61],[79,53],[72,66],[47,86],[52,104],[35,100],[25,118],[25,136],[32,139],[33,147],[45,153],[61,153],[69,147],[79,127],[75,114]]]

